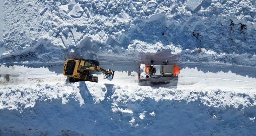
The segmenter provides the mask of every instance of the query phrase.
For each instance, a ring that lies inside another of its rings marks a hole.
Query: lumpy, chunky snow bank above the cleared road
[[[247,0],[5,1],[1,62],[28,52],[33,61],[56,62],[72,51],[133,61],[127,54],[171,50],[180,62],[255,66],[255,14]]]

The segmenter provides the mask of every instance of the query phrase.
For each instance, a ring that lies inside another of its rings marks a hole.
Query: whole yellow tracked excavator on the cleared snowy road
[[[94,60],[67,59],[63,66],[63,74],[69,77],[69,82],[91,81],[98,82],[98,76],[92,76],[89,71],[98,71],[105,74],[105,78],[113,79],[115,71],[99,67]]]

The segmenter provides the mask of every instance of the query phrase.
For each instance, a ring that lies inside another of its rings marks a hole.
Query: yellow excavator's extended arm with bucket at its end
[[[82,65],[78,65],[78,69],[77,70],[80,73],[82,73],[82,74],[83,74],[84,70],[91,70],[91,71],[95,71],[96,70],[98,72],[104,73],[107,78],[111,78],[111,79],[113,79],[114,73],[115,73],[115,71],[112,71],[110,69],[105,70],[105,69],[103,69],[103,68],[101,68],[99,66],[82,66]]]

